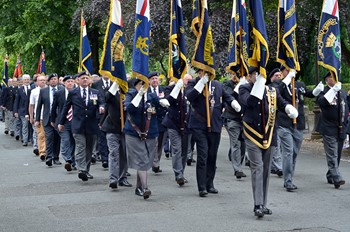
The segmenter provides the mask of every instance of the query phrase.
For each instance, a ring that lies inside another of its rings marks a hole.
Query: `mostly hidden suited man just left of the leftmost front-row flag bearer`
[[[111,81],[109,80],[108,76],[103,75],[101,79],[92,83],[91,88],[97,89],[100,92],[103,101],[106,101],[106,93],[110,86]],[[96,142],[98,142],[98,145],[96,144],[96,146],[98,146],[98,152],[101,157],[102,167],[108,168],[108,145],[106,140],[106,133],[100,130],[97,137],[98,141]]]

